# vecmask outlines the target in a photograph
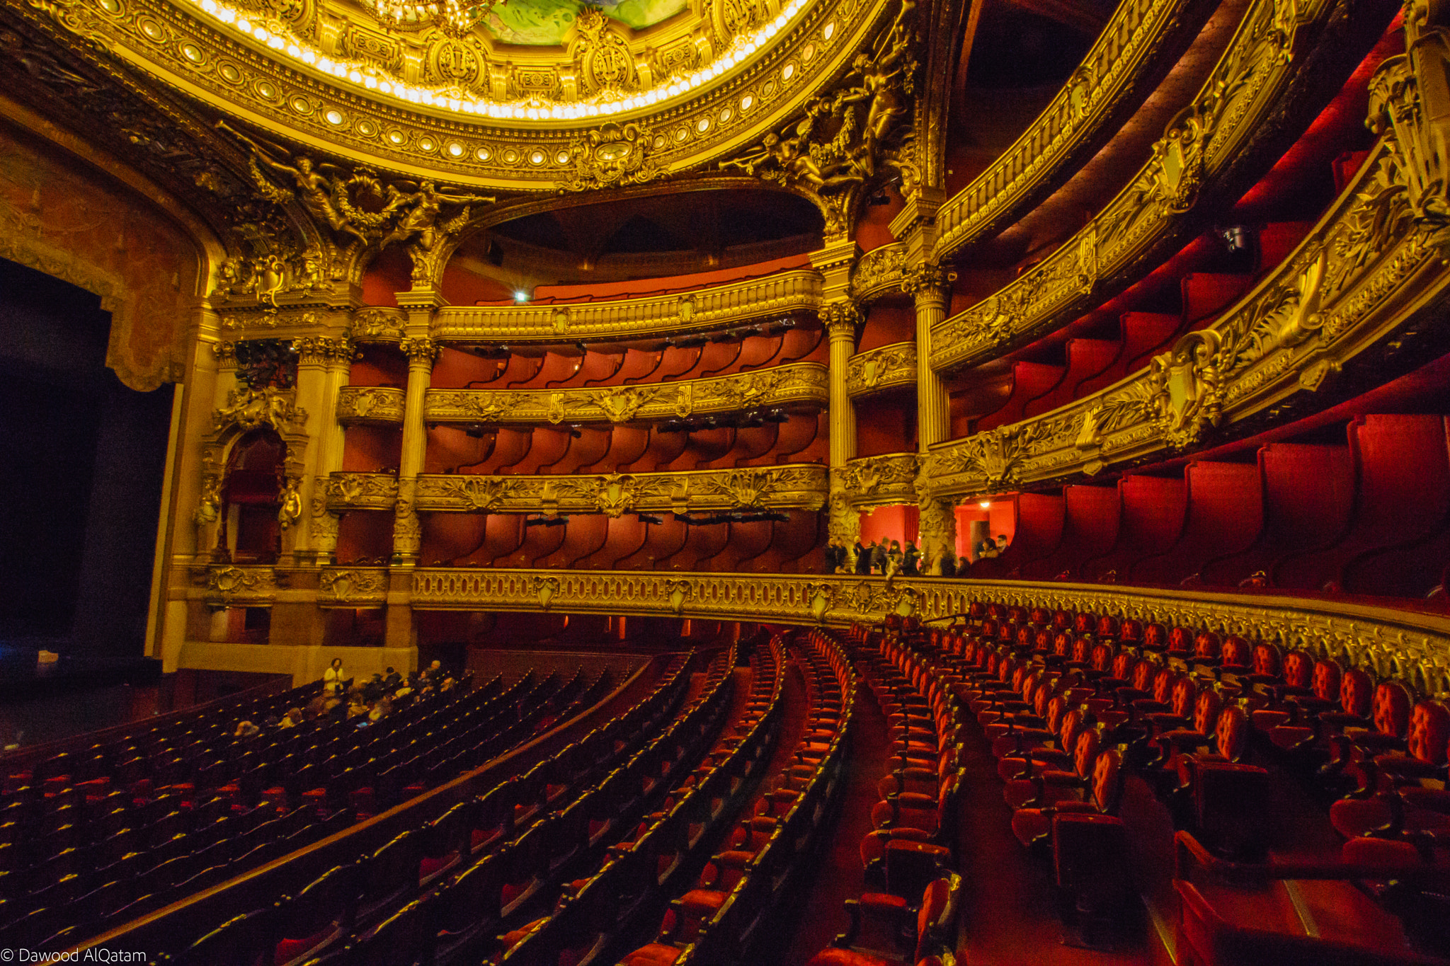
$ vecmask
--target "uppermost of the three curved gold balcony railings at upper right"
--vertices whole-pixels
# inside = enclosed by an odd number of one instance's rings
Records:
[[[937,259],[999,232],[1051,190],[1095,143],[1108,122],[1185,30],[1198,29],[1202,3],[1122,0],[1057,97],[1016,142],[937,210]]]

